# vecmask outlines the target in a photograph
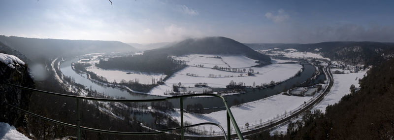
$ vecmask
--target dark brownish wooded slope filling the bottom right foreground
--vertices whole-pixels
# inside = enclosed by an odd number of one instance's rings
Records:
[[[285,140],[392,140],[394,59],[378,64],[360,80],[360,90],[329,105],[326,114],[308,113],[289,124]],[[269,137],[269,136],[267,136]],[[277,136],[271,137],[277,139]],[[252,139],[252,138],[251,138]],[[268,138],[266,138],[268,139]]]

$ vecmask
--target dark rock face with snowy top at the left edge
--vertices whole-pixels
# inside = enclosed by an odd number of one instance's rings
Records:
[[[0,53],[0,122],[26,128],[28,121],[25,114],[7,104],[28,110],[31,92],[4,83],[34,88],[27,65],[13,55]]]

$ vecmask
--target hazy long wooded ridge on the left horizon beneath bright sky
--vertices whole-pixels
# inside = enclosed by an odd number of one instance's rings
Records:
[[[18,50],[31,60],[87,53],[136,51],[120,41],[39,39],[0,35],[0,42]]]

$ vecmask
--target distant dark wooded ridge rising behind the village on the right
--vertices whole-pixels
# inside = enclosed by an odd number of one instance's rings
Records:
[[[322,53],[331,60],[344,61],[349,64],[374,65],[393,57],[394,43],[387,42],[321,42],[311,44],[279,44],[279,43],[249,43],[252,49],[294,48],[298,51]]]

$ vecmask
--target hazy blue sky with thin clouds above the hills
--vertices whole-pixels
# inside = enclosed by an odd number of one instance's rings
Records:
[[[394,42],[394,0],[1,0],[0,35],[126,43]]]

